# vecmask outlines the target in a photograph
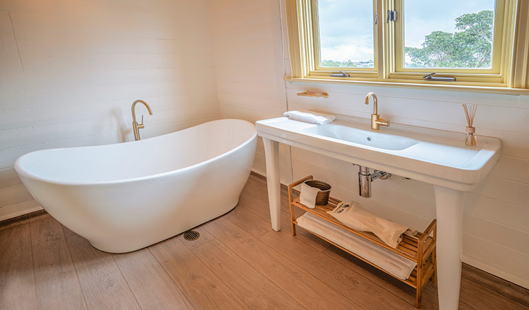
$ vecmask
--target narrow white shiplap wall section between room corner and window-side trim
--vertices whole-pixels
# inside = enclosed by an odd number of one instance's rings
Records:
[[[286,111],[279,2],[212,0],[219,106],[223,118],[251,122]],[[250,78],[251,76],[251,78]],[[290,148],[281,146],[281,180],[292,179]],[[266,174],[261,138],[254,171]]]

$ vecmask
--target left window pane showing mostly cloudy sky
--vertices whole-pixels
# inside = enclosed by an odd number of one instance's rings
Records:
[[[318,0],[321,67],[374,68],[372,0]]]

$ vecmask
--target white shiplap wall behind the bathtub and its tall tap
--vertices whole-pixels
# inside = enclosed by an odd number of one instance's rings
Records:
[[[0,0],[0,220],[40,209],[18,156],[131,141],[135,99],[143,138],[219,118],[209,20],[207,0]]]

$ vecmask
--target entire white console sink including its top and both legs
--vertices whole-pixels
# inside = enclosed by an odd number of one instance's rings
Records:
[[[281,229],[279,143],[434,185],[439,309],[458,308],[463,192],[477,186],[495,165],[499,139],[478,136],[478,145],[468,147],[462,133],[395,124],[370,130],[369,120],[363,119],[312,125],[279,117],[258,121],[256,127],[265,147],[270,218],[276,231]]]

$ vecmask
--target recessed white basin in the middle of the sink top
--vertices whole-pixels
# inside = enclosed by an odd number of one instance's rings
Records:
[[[419,143],[419,141],[412,138],[381,134],[379,132],[369,132],[336,124],[309,127],[302,131],[317,136],[326,136],[327,138],[335,138],[341,141],[348,141],[350,143],[357,143],[369,147],[377,147],[379,149],[390,149],[393,151],[407,149],[408,147]]]

